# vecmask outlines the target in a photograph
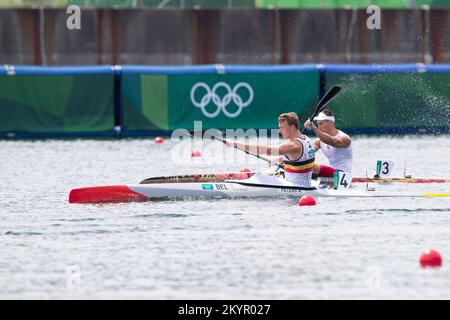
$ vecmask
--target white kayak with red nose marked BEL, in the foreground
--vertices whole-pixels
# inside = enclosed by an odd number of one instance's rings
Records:
[[[301,187],[282,178],[255,174],[245,180],[194,183],[152,183],[73,189],[70,203],[148,201],[171,198],[235,197],[450,197],[450,193],[404,193],[367,190],[334,190],[326,186]]]

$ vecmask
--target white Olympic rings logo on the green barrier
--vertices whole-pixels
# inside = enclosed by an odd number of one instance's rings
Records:
[[[227,92],[222,98],[220,98],[220,96],[216,93],[219,88],[225,88]],[[237,93],[240,88],[245,88],[248,91],[248,98],[246,101],[243,101],[242,97]],[[199,89],[203,89],[205,93],[200,101],[197,101],[195,99],[195,93]],[[230,104],[231,100],[233,100],[234,104],[238,106],[238,109],[234,112],[230,112],[227,110],[227,106]],[[216,83],[214,87],[212,87],[212,89],[210,89],[209,86],[204,82],[197,82],[191,89],[191,101],[192,104],[197,108],[200,108],[202,110],[202,113],[208,118],[217,117],[220,111],[223,111],[223,113],[228,118],[236,118],[241,114],[242,109],[252,103],[253,89],[246,82],[239,82],[234,86],[233,89],[231,89],[231,87],[225,82]],[[209,112],[208,110],[206,110],[206,107],[210,104],[211,101],[216,106],[213,112]]]

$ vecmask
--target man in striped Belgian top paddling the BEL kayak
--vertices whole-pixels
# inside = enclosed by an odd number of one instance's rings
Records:
[[[278,127],[288,141],[278,146],[251,145],[236,141],[225,141],[249,153],[277,156],[272,163],[284,163],[285,179],[300,186],[311,186],[314,169],[314,146],[312,141],[298,130],[299,120],[295,112],[283,113],[278,117]]]

